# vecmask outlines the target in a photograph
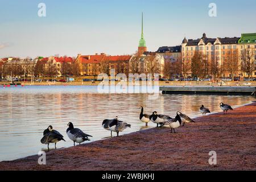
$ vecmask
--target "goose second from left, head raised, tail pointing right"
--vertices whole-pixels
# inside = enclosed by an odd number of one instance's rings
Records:
[[[72,122],[68,123],[67,135],[68,138],[70,138],[74,142],[74,146],[75,142],[81,144],[86,140],[90,140],[88,137],[92,137],[91,135],[85,134],[80,129],[74,129]]]

